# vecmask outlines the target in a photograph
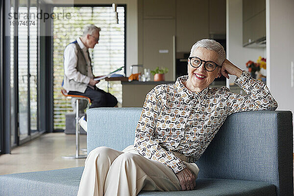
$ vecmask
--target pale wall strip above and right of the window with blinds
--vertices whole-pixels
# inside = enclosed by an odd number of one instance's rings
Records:
[[[138,0],[46,0],[52,4],[126,4],[126,75],[138,64]]]

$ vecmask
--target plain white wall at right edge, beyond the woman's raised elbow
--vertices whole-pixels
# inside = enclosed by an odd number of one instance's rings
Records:
[[[266,0],[266,20],[268,86],[278,102],[278,110],[294,112],[294,0]]]

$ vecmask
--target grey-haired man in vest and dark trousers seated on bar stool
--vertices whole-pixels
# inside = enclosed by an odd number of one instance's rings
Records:
[[[90,108],[114,107],[118,103],[117,98],[113,95],[98,89],[96,84],[99,80],[94,80],[88,49],[93,49],[98,44],[100,30],[95,25],[87,25],[83,36],[77,37],[74,42],[70,43],[65,48],[63,55],[64,81],[62,87],[69,95],[90,98]]]

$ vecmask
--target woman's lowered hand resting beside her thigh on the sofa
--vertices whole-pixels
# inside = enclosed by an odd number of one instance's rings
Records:
[[[178,178],[183,191],[190,191],[196,188],[196,176],[188,168],[177,172],[175,175]]]

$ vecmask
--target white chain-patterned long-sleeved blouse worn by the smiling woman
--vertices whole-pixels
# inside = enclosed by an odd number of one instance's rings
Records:
[[[134,147],[144,157],[163,163],[174,173],[186,166],[174,155],[177,151],[195,162],[208,147],[226,117],[235,112],[275,110],[277,102],[268,87],[247,72],[235,83],[247,95],[230,92],[226,87],[191,92],[183,82],[153,88],[146,96],[135,131]]]

